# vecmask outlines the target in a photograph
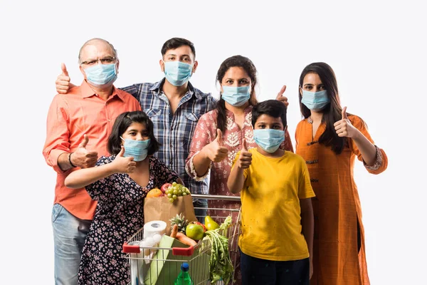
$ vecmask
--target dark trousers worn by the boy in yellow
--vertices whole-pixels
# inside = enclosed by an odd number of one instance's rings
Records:
[[[271,261],[241,254],[241,272],[243,285],[309,285],[310,261],[306,259],[292,261]]]

